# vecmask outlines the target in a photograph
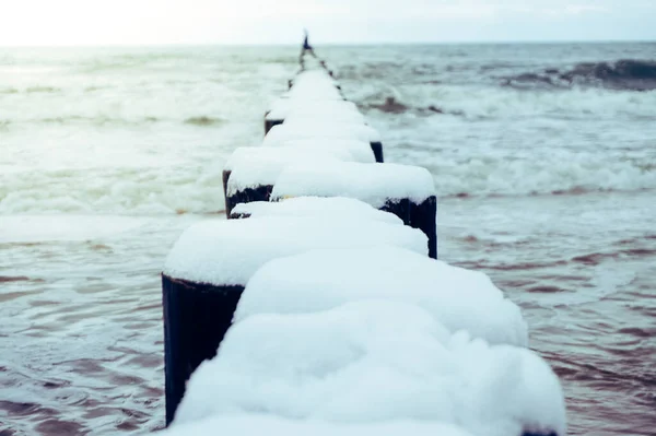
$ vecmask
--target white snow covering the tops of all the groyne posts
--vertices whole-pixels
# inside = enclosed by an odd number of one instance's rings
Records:
[[[274,182],[279,201],[196,224],[169,252],[166,275],[246,288],[163,435],[565,436],[562,388],[526,349],[519,308],[374,209],[420,203],[433,179],[372,164],[379,135],[335,86],[298,74],[267,116],[285,119],[267,146],[226,164],[233,186]]]

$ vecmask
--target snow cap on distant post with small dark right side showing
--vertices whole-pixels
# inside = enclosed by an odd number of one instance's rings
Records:
[[[298,122],[273,126],[265,140],[285,141],[294,139],[342,138],[356,139],[366,142],[380,142],[380,134],[371,126],[362,123],[324,123],[319,119],[312,122]]]

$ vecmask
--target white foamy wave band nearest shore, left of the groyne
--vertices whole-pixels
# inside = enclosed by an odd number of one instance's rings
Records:
[[[160,168],[28,170],[0,175],[0,214],[216,213],[222,173]]]

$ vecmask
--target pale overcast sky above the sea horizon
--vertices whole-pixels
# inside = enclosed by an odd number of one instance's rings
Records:
[[[0,0],[0,46],[656,40],[656,0]]]

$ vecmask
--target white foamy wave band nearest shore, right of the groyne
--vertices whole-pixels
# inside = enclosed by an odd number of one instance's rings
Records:
[[[408,154],[403,163],[426,167],[440,197],[576,196],[596,192],[656,190],[656,170],[642,158],[612,152],[475,150],[469,156],[424,151]]]

